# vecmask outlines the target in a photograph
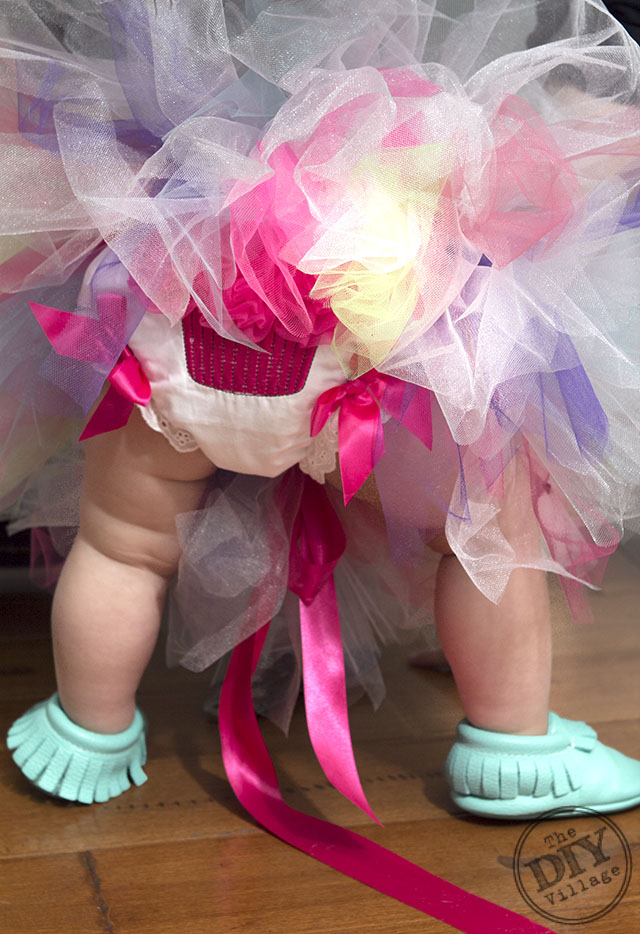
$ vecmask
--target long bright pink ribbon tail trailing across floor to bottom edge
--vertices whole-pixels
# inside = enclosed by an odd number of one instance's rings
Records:
[[[365,885],[466,934],[552,934],[438,878],[366,837],[289,807],[253,708],[251,678],[268,624],[236,646],[220,698],[224,767],[238,800],[280,839]]]

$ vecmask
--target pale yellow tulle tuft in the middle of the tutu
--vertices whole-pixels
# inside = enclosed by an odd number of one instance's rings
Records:
[[[447,143],[384,149],[352,173],[349,208],[336,232],[350,255],[319,273],[312,294],[329,300],[344,326],[334,347],[342,359],[355,355],[361,371],[388,356],[414,314],[423,288],[417,268],[447,181],[449,151]]]

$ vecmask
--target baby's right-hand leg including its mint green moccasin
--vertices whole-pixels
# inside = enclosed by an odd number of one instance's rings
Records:
[[[619,811],[640,804],[640,762],[597,741],[590,727],[549,712],[551,618],[546,576],[526,566],[540,531],[528,478],[505,477],[500,525],[523,566],[499,604],[452,554],[436,587],[436,625],[466,720],[445,763],[453,801],[484,817],[531,818],[558,807]],[[446,541],[439,544],[446,551]]]

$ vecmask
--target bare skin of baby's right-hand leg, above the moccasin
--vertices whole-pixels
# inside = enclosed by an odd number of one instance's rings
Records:
[[[529,477],[517,461],[505,474],[500,527],[523,561],[539,553]],[[444,536],[438,544],[443,556],[436,582],[436,627],[465,716],[484,730],[545,734],[551,687],[546,574],[516,568],[500,603],[494,604],[475,587]]]

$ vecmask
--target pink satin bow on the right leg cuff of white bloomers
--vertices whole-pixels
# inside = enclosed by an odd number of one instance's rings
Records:
[[[345,505],[384,454],[381,408],[431,448],[429,390],[375,370],[323,392],[311,413],[313,438],[322,431],[331,415],[338,412],[340,474]]]

